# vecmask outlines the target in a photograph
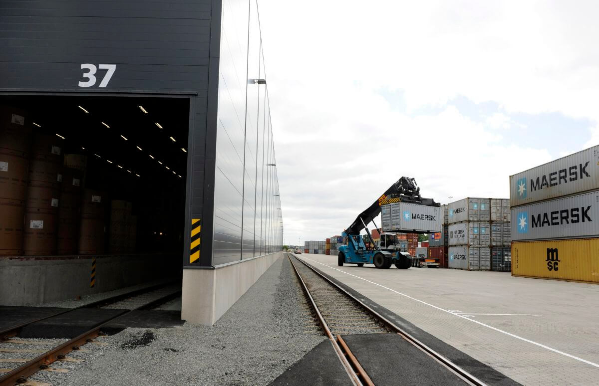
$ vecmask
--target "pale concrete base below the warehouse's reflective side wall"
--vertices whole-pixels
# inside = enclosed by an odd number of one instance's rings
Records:
[[[183,269],[181,319],[212,326],[281,257],[277,252],[216,269]]]

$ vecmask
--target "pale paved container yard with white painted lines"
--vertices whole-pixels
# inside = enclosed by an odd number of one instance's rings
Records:
[[[336,256],[298,257],[398,315],[406,326],[514,381],[586,385],[599,374],[598,285],[504,272],[338,267]]]

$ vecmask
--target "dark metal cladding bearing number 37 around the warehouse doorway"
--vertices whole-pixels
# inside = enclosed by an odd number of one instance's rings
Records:
[[[216,26],[211,10],[216,5]],[[173,93],[192,95],[189,118],[186,234],[202,218],[211,232],[214,151],[207,153],[208,82],[218,72],[220,0],[3,0],[0,1],[0,91]],[[215,41],[216,39],[216,41]],[[210,53],[216,47],[216,55]],[[96,81],[81,87],[93,65]],[[114,65],[110,81],[100,87]],[[213,97],[216,99],[216,95]],[[212,127],[216,132],[216,127]],[[211,235],[207,238],[211,248]],[[204,245],[202,245],[203,247]],[[205,251],[204,251],[205,252]],[[211,251],[198,265],[211,266]]]

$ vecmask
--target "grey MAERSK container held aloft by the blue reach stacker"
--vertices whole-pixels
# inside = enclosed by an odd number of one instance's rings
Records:
[[[443,218],[439,206],[398,202],[380,209],[385,232],[441,232]]]

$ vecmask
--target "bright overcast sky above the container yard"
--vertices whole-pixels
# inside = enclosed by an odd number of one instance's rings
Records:
[[[286,244],[340,234],[403,175],[441,203],[509,197],[509,175],[599,144],[598,11],[259,0]]]

